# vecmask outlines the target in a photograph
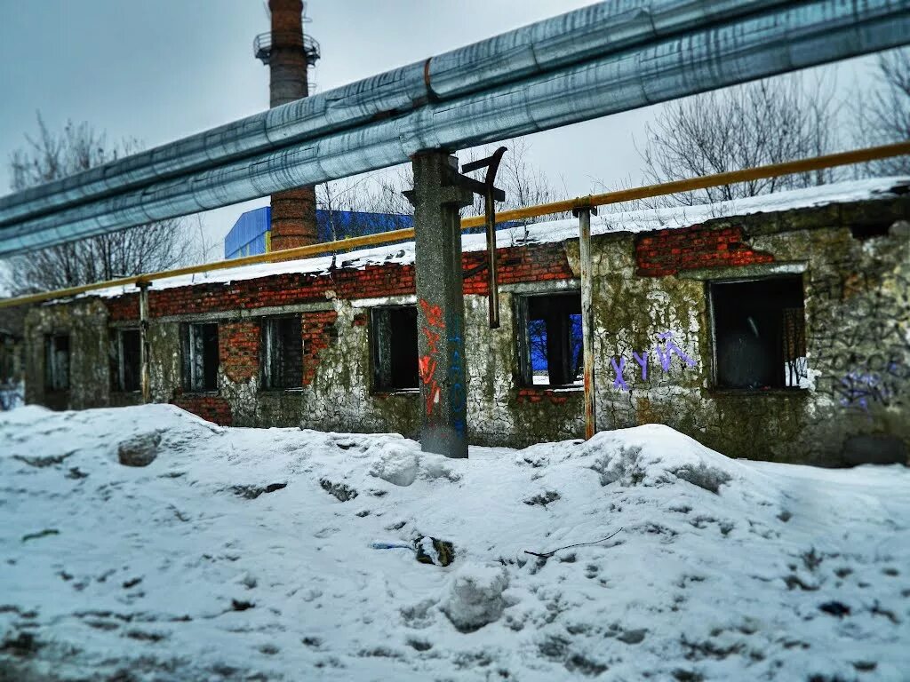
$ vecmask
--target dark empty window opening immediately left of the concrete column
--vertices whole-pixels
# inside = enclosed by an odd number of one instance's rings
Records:
[[[369,312],[375,390],[419,388],[417,307],[382,307]]]

